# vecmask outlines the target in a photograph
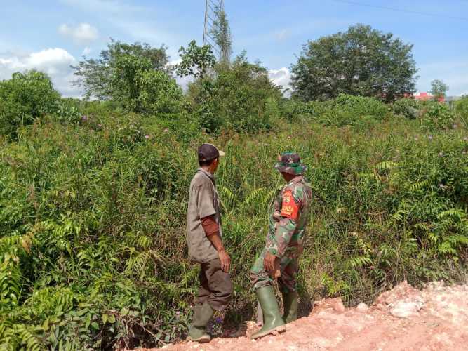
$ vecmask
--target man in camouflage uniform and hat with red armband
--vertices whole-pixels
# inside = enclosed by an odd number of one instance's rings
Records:
[[[303,176],[307,167],[300,163],[298,154],[284,152],[275,168],[288,184],[274,200],[265,249],[250,271],[253,290],[263,314],[262,329],[253,338],[285,331],[285,323],[297,319],[297,258],[302,253],[312,189]],[[282,317],[272,286],[275,279],[279,279],[283,294]]]

